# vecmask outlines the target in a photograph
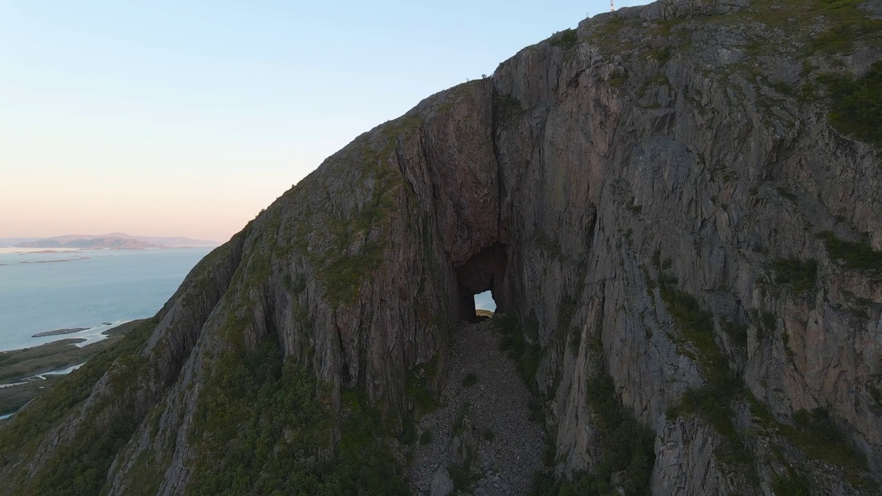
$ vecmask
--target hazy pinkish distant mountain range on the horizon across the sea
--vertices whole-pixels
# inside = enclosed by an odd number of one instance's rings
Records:
[[[217,246],[219,244],[216,241],[193,239],[191,237],[130,236],[121,232],[100,236],[75,234],[56,237],[0,237],[0,246],[15,246],[18,248],[142,250],[145,248]]]

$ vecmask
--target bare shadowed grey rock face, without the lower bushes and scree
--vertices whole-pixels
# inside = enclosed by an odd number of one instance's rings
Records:
[[[200,385],[224,349],[266,340],[328,385],[334,410],[355,387],[397,421],[407,372],[437,364],[438,393],[447,334],[491,289],[542,348],[532,386],[558,472],[602,459],[586,386],[600,368],[657,434],[654,493],[759,493],[791,465],[818,491],[861,492],[779,427],[825,410],[882,476],[882,269],[836,251],[882,249],[880,159],[794,88],[882,55],[860,40],[808,52],[829,26],[788,5],[797,20],[770,40],[772,7],[667,1],[586,19],[359,136],[194,269],[136,387],[110,387],[112,368],[4,473],[26,480],[83,419],[131,408],[138,430],[107,487],[125,492],[148,454],[160,493],[182,493]],[[719,397],[734,433],[672,409],[733,378],[744,387]],[[727,443],[755,462],[730,463]]]

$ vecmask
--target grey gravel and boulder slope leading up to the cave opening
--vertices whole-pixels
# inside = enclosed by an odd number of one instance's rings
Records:
[[[453,332],[445,404],[417,421],[418,433],[429,430],[432,440],[417,443],[413,451],[414,494],[449,493],[452,481],[445,469],[456,470],[458,453],[469,458],[459,464],[470,467],[459,471],[473,483],[460,487],[465,494],[527,494],[534,473],[542,469],[546,442],[542,427],[529,419],[533,395],[512,359],[499,350],[500,337],[492,320],[464,323]],[[474,384],[465,386],[467,379]]]

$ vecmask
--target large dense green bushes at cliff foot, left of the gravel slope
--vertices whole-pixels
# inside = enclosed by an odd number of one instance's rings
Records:
[[[188,496],[407,494],[363,393],[343,392],[340,443],[335,455],[319,455],[333,446],[330,387],[293,360],[283,364],[273,340],[222,351],[201,391]]]

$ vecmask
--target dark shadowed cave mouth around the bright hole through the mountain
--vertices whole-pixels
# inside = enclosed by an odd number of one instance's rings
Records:
[[[502,283],[505,276],[505,244],[496,243],[474,257],[468,259],[460,267],[456,267],[457,289],[459,290],[460,319],[468,322],[478,320],[475,313],[475,295],[490,291],[497,312],[504,312],[502,298],[499,296],[497,284]]]

